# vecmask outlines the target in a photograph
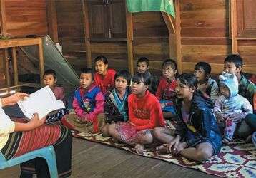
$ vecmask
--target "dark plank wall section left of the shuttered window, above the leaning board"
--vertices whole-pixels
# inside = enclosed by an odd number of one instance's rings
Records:
[[[85,66],[84,22],[82,1],[56,0],[59,43],[63,54],[79,70]]]

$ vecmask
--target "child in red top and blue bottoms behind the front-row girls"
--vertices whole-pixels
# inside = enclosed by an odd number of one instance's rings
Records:
[[[164,118],[175,115],[172,101],[176,98],[176,76],[177,64],[172,59],[167,59],[162,63],[162,78],[160,79],[156,97],[160,100]]]

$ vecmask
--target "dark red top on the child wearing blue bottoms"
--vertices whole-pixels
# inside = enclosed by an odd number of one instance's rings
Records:
[[[177,86],[176,80],[172,80],[171,83],[165,78],[161,78],[158,88],[157,88],[157,99],[158,100],[173,100],[176,96],[175,88]]]

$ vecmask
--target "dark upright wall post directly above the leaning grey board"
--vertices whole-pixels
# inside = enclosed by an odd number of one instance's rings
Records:
[[[58,23],[55,0],[46,1],[48,33],[54,43],[58,43]]]

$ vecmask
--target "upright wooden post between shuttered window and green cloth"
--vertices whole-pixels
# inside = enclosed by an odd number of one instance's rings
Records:
[[[132,26],[132,13],[129,13],[126,7],[126,23],[127,23],[127,57],[129,73],[134,75],[134,60],[133,60],[133,26]]]

